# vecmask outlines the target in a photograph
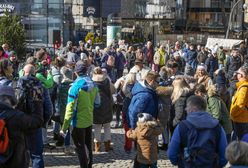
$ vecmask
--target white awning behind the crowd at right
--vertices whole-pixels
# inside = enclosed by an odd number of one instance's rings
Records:
[[[224,49],[231,49],[234,46],[240,45],[242,42],[243,40],[237,39],[208,38],[206,47],[212,49],[218,44],[218,46],[223,46]]]

